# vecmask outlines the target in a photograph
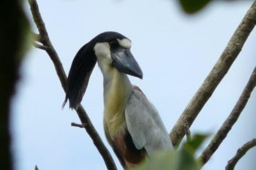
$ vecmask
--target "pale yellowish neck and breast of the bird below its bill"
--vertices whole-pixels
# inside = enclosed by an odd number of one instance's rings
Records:
[[[113,137],[125,127],[125,106],[132,93],[132,84],[126,74],[119,72],[115,67],[101,65],[104,78],[104,120]]]

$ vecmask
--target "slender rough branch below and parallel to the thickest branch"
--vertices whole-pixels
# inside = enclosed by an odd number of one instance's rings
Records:
[[[218,149],[221,142],[225,139],[228,132],[231,130],[232,126],[236,123],[245,105],[247,104],[247,101],[250,98],[251,92],[253,91],[255,85],[256,85],[256,67],[254,68],[252,75],[248,83],[246,84],[241,96],[239,97],[234,109],[231,111],[228,118],[222,124],[218,132],[215,134],[210,144],[207,146],[207,148],[203,151],[203,153],[198,158],[198,160],[202,162],[202,166],[210,159],[213,153]]]

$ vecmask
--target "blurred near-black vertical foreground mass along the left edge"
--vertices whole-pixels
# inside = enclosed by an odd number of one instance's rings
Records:
[[[0,169],[12,170],[10,137],[11,98],[20,78],[20,64],[31,46],[30,25],[23,0],[8,0],[0,10]]]

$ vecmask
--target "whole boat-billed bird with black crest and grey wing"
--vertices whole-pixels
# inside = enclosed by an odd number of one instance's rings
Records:
[[[104,32],[82,46],[67,78],[69,107],[77,109],[96,62],[103,74],[104,131],[124,169],[134,167],[156,151],[172,149],[169,134],[157,109],[128,75],[142,79],[131,53],[131,40],[117,32]]]

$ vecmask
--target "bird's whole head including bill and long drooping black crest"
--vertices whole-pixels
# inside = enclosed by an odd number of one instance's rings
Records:
[[[67,79],[66,98],[70,108],[75,108],[83,98],[92,70],[98,61],[102,71],[115,67],[119,72],[143,77],[139,64],[131,51],[131,41],[116,32],[104,32],[82,46],[77,52]]]

